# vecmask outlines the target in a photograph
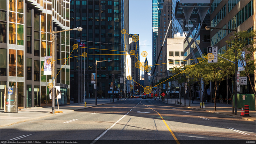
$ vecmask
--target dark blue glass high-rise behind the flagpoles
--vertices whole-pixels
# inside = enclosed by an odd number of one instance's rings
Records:
[[[70,59],[71,96],[75,103],[84,102],[84,98],[95,98],[94,84],[91,75],[95,73],[95,61],[98,62],[97,96],[110,98],[111,83],[115,90],[124,84],[118,82],[120,77],[126,77],[125,48],[129,49],[129,1],[128,0],[72,0],[70,4],[71,28],[82,27],[81,32],[71,31],[71,46],[78,43]],[[122,29],[126,33],[121,33]],[[79,39],[77,41],[77,39]],[[82,57],[86,52],[87,56]],[[127,75],[128,76],[128,75]],[[124,92],[122,91],[122,95]]]

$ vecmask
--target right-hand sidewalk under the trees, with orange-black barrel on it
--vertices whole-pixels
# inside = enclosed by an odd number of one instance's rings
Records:
[[[159,97],[158,97],[158,100],[159,100]],[[175,100],[177,100],[177,98],[175,98],[175,99],[168,98],[168,104],[184,106],[184,99],[181,99],[182,104],[175,104]],[[178,99],[178,100],[180,102],[180,99]],[[165,100],[163,102],[167,103],[167,99],[165,98]],[[186,106],[184,106],[184,107],[197,109],[197,110],[201,110],[201,111],[212,112],[212,113],[216,113],[216,114],[229,115],[232,117],[241,118],[241,119],[245,119],[248,121],[256,121],[256,111],[249,110],[249,115],[251,117],[243,117],[243,116],[240,116],[241,109],[237,108],[237,115],[232,114],[232,105],[226,104],[225,102],[223,102],[223,103],[217,102],[216,103],[217,111],[214,111],[214,103],[205,102],[204,105],[205,105],[205,108],[200,108],[200,101],[197,100],[197,101],[194,101],[193,104],[192,104],[192,101],[190,101],[190,106],[189,106],[189,100],[186,100]],[[243,111],[244,111],[244,109],[243,109]],[[235,112],[235,109],[234,109],[234,112]]]

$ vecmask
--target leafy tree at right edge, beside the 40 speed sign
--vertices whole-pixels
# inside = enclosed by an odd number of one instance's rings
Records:
[[[253,93],[256,95],[256,79],[250,79],[250,75],[256,73],[256,58],[254,58],[256,52],[256,31],[240,31],[235,33],[234,37],[230,38],[230,41],[226,41],[226,43],[229,45],[229,49],[237,52],[237,58],[242,61],[241,64],[245,69],[243,73],[249,78]],[[244,55],[242,55],[242,52],[244,52]]]

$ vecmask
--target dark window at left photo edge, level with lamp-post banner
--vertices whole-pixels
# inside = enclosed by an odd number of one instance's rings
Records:
[[[7,76],[7,49],[0,49],[0,75]]]

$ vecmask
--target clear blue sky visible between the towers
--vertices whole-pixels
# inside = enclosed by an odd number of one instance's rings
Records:
[[[148,52],[148,65],[152,65],[152,0],[130,0],[129,2],[129,33],[139,34],[140,53]],[[145,62],[145,58],[140,56],[140,61]]]

